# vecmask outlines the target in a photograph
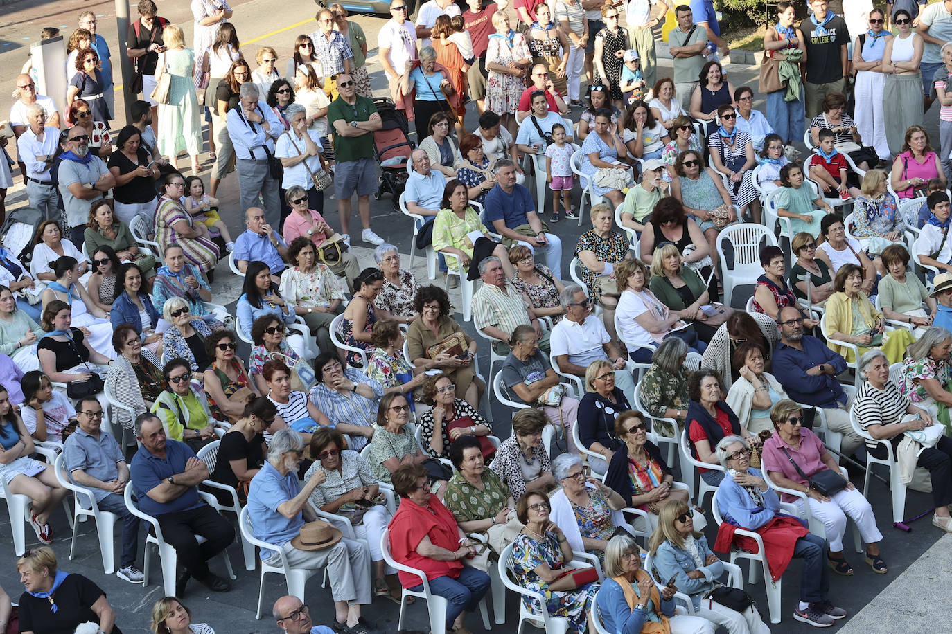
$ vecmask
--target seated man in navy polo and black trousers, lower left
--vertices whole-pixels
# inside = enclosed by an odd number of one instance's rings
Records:
[[[140,414],[134,425],[141,447],[132,457],[132,489],[139,509],[159,521],[162,536],[185,567],[175,579],[175,596],[185,594],[190,577],[213,592],[228,592],[231,584],[208,569],[208,560],[228,548],[235,531],[198,495],[208,468],[188,445],[166,438],[154,413]],[[199,544],[196,535],[205,541]]]

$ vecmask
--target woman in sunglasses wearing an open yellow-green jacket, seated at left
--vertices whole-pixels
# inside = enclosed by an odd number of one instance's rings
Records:
[[[191,451],[202,449],[217,436],[208,398],[202,387],[191,381],[197,376],[184,358],[170,360],[162,375],[168,387],[155,399],[149,412],[162,421],[169,440],[184,442]]]

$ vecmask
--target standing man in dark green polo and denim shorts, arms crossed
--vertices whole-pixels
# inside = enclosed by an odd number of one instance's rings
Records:
[[[340,96],[327,107],[334,126],[334,193],[341,217],[341,234],[350,244],[350,197],[357,193],[357,213],[364,231],[361,240],[380,245],[384,240],[370,229],[370,194],[377,191],[377,165],[373,157],[373,132],[384,126],[372,99],[357,94],[347,73],[337,76]]]

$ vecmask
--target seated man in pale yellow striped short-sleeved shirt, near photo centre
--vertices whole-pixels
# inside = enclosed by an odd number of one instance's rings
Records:
[[[548,354],[548,331],[543,332],[532,302],[506,281],[503,263],[490,256],[479,263],[483,286],[473,294],[473,319],[486,336],[498,339],[492,348],[499,355],[509,354],[509,337],[520,324],[530,324],[540,336],[539,347]]]

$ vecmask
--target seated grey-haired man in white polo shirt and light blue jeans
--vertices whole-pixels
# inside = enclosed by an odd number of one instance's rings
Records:
[[[602,319],[591,312],[591,300],[578,284],[565,286],[559,294],[559,303],[565,309],[565,319],[552,328],[549,346],[559,372],[578,376],[585,382],[585,369],[592,361],[607,360],[615,367],[615,386],[634,403],[635,381],[630,372],[624,372],[627,360],[611,340]],[[581,394],[580,394],[581,395]]]

